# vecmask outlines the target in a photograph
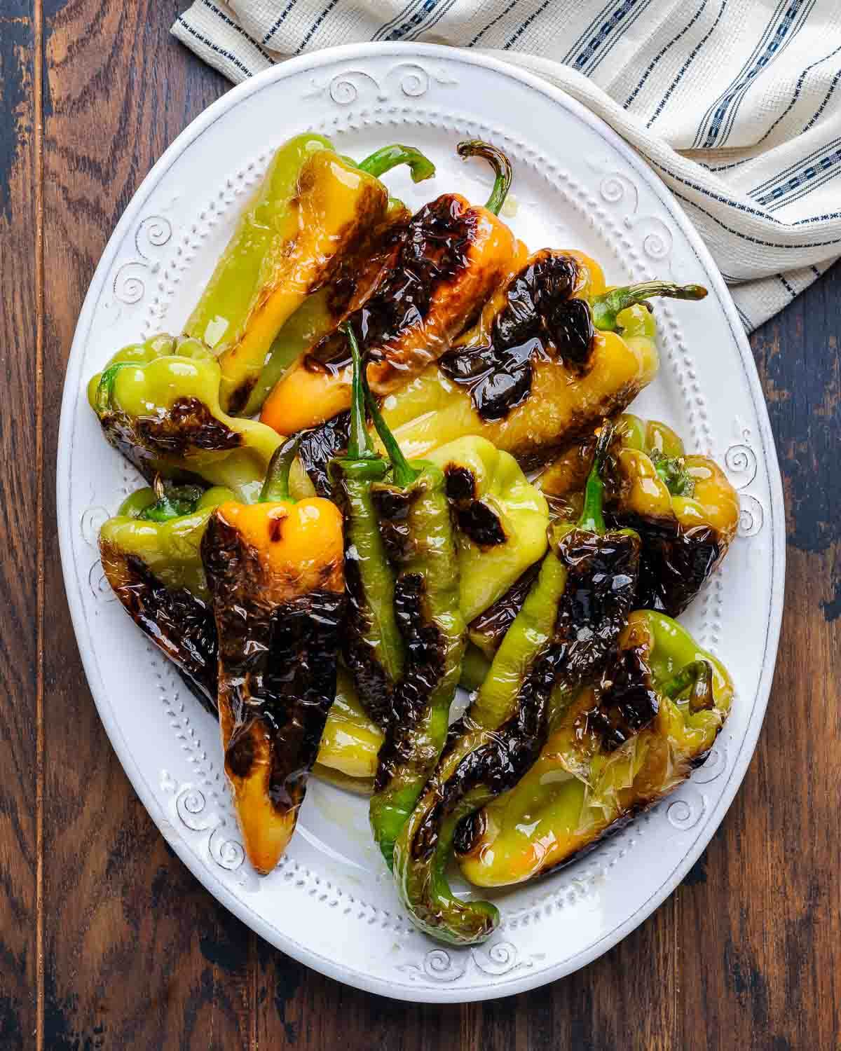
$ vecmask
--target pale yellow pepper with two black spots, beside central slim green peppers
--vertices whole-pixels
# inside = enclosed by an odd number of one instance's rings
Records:
[[[459,438],[428,458],[446,479],[456,523],[461,615],[472,621],[542,558],[549,506],[514,457],[486,438]]]

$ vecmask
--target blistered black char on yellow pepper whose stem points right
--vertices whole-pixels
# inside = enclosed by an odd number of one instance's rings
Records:
[[[588,304],[571,298],[577,285],[572,256],[537,252],[509,284],[488,344],[455,347],[439,359],[445,375],[470,388],[483,419],[502,419],[526,400],[536,357],[586,371],[594,330]]]

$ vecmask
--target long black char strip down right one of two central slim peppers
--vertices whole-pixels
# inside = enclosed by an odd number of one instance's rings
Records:
[[[397,578],[394,586],[394,616],[406,643],[406,661],[394,689],[391,725],[380,749],[374,791],[381,791],[397,766],[427,764],[436,755],[418,755],[415,729],[429,710],[431,695],[444,677],[447,665],[446,640],[426,606],[426,584],[419,573]]]

